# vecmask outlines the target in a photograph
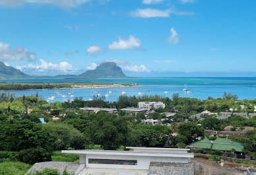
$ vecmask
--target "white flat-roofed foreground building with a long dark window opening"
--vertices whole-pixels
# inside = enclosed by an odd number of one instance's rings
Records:
[[[75,174],[194,174],[189,149],[127,147],[132,151],[65,150],[79,154],[80,166]],[[164,165],[164,168],[162,167]],[[158,172],[158,173],[157,173]]]

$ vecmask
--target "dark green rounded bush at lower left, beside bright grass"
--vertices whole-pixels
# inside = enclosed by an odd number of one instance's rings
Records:
[[[24,149],[18,153],[19,160],[28,164],[51,161],[51,153],[43,148]]]

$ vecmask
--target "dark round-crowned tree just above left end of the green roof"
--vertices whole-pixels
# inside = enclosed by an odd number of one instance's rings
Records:
[[[177,130],[179,134],[187,137],[187,144],[196,141],[199,137],[205,136],[204,129],[193,122],[180,124]]]

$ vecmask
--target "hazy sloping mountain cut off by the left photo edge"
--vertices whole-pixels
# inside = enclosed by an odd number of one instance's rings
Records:
[[[6,66],[5,63],[0,61],[0,79],[15,78],[30,78],[30,76],[12,66]]]

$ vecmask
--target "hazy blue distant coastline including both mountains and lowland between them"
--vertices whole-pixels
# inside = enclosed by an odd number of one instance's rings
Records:
[[[58,75],[58,76],[30,76],[0,62],[0,79],[24,79],[24,78],[63,78],[63,79],[97,79],[97,78],[127,78],[123,70],[113,62],[104,62],[95,70],[87,70],[79,75]]]

